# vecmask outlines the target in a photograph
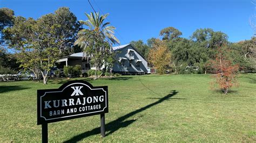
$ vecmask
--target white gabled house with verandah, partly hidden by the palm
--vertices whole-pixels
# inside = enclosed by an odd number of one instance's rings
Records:
[[[112,68],[113,73],[119,74],[147,74],[147,61],[131,44],[112,47],[117,52],[117,61]],[[60,66],[81,65],[83,72],[95,69],[90,65],[90,60],[82,60],[83,52],[71,54],[59,59]]]

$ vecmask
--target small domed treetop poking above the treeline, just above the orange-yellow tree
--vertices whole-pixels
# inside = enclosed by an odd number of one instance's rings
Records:
[[[163,40],[173,40],[178,38],[182,33],[174,27],[166,27],[160,31]]]

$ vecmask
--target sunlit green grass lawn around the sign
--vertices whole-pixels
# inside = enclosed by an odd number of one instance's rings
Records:
[[[239,76],[228,95],[211,90],[210,75],[121,76],[92,81],[109,86],[106,137],[100,117],[48,125],[53,142],[255,142],[256,75]],[[59,88],[66,80],[0,83],[0,142],[40,142],[37,89]]]

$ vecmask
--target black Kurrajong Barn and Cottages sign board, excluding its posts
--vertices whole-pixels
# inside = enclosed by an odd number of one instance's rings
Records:
[[[59,89],[37,90],[37,125],[109,112],[107,87],[70,81]]]

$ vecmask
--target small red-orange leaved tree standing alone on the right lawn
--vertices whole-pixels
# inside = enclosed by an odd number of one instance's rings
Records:
[[[239,71],[239,66],[233,65],[232,61],[227,58],[227,52],[225,47],[219,47],[216,59],[212,61],[216,78],[215,83],[219,85],[224,94],[227,94],[228,90],[237,84],[236,77]]]

